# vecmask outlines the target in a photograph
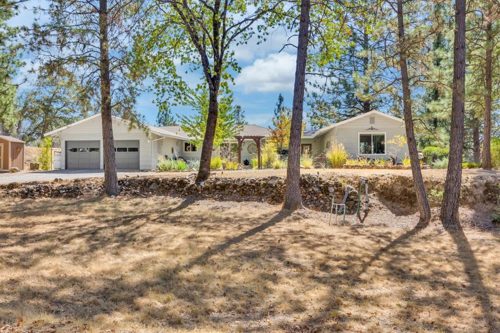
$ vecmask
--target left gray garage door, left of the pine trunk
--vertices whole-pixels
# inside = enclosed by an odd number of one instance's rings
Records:
[[[66,169],[99,168],[99,141],[66,141]]]

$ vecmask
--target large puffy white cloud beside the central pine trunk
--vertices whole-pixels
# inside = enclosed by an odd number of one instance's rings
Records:
[[[270,53],[244,67],[236,77],[236,88],[245,93],[291,91],[295,75],[295,55],[281,52]]]

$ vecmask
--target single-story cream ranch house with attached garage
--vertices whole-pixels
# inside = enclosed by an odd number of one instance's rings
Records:
[[[118,169],[155,169],[158,156],[171,158],[175,154],[186,160],[199,159],[201,148],[189,143],[190,138],[180,126],[151,126],[128,130],[128,123],[113,117],[113,137]],[[241,136],[269,138],[269,130],[257,125],[245,125]],[[341,142],[351,157],[382,158],[389,155],[404,157],[406,145],[388,143],[395,135],[405,135],[402,119],[379,111],[370,111],[319,130],[305,130],[301,138],[302,151],[323,154],[333,142]],[[103,169],[102,126],[100,113],[45,133],[61,142],[61,169]],[[237,147],[237,141],[230,141]],[[237,149],[237,148],[236,148]],[[250,160],[257,147],[253,139],[244,139],[241,160]],[[214,150],[216,155],[219,150]]]

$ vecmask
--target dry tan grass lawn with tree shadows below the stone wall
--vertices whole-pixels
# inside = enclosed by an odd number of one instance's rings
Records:
[[[500,330],[491,232],[165,197],[0,207],[0,332]]]

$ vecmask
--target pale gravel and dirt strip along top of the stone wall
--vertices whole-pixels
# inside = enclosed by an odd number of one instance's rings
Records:
[[[118,178],[132,176],[148,177],[178,177],[195,173],[194,171],[185,172],[145,172],[136,170],[118,171]],[[370,176],[405,176],[411,177],[411,170],[376,170],[376,169],[301,169],[300,173],[312,173],[320,176],[347,176],[347,177],[370,177]],[[422,170],[424,178],[444,179],[446,170]],[[234,171],[212,171],[212,175],[217,177],[267,177],[267,176],[286,176],[285,169],[264,169],[264,170],[234,170]],[[486,171],[480,169],[471,169],[462,171],[463,178],[484,177],[499,178],[500,172],[496,170]],[[22,173],[0,173],[0,184],[12,182],[25,183],[34,181],[51,181],[55,178],[70,180],[82,178],[102,178],[102,170],[54,170],[54,171],[32,171]]]

